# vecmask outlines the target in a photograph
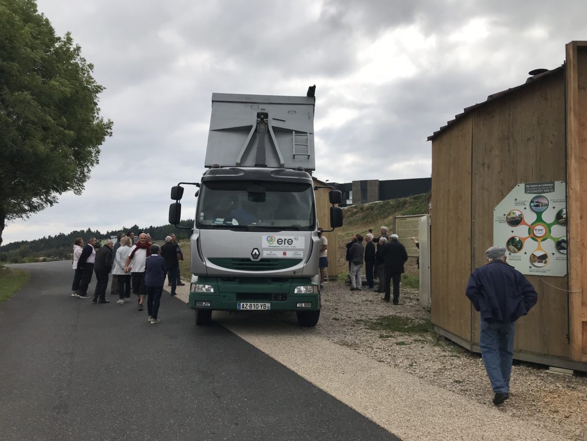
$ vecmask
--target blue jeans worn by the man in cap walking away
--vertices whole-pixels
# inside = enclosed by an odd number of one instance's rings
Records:
[[[488,323],[481,320],[479,346],[487,376],[495,393],[510,393],[514,331],[515,323]]]

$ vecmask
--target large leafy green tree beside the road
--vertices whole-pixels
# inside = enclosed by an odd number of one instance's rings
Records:
[[[5,223],[80,194],[112,121],[72,36],[33,0],[0,0],[0,244]]]

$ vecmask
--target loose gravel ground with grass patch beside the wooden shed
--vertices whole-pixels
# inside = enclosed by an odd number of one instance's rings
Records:
[[[410,270],[413,266],[410,262]],[[322,313],[315,329],[323,338],[494,407],[481,356],[439,338],[431,330],[430,313],[420,306],[417,290],[402,287],[398,306],[383,302],[382,294],[375,291],[351,292],[342,282],[326,283],[322,293]],[[382,316],[423,326],[410,332],[369,329],[374,327],[373,320]],[[585,441],[587,377],[553,373],[548,366],[514,361],[511,398],[499,409],[569,439]]]

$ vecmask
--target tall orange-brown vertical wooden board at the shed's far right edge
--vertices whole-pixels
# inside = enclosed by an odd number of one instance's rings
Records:
[[[571,358],[587,362],[587,42],[566,45]]]

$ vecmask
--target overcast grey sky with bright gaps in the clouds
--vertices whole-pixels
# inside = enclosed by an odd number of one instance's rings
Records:
[[[587,2],[546,0],[38,0],[95,65],[114,134],[82,195],[9,223],[4,243],[167,223],[171,186],[199,181],[212,92],[305,95],[314,175],[426,178],[426,141],[463,108],[552,69],[587,39]],[[191,193],[190,193],[191,194]],[[184,218],[194,200],[184,196]],[[158,238],[156,238],[158,239]]]

